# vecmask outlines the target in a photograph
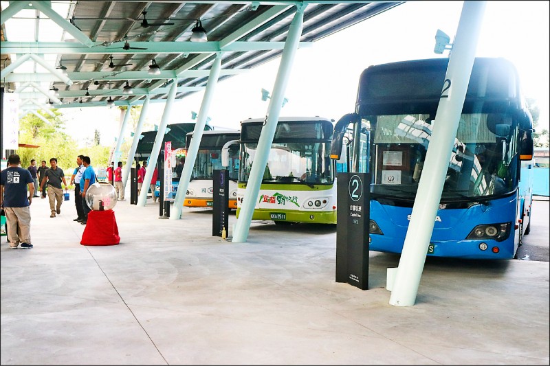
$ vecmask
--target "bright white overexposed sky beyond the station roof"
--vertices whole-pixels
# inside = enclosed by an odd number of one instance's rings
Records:
[[[540,108],[538,130],[549,129],[549,1],[487,1],[476,56],[503,57],[518,69],[522,90]],[[287,84],[287,104],[281,116],[321,116],[338,121],[355,108],[360,74],[370,65],[421,58],[434,54],[434,36],[442,30],[454,40],[462,1],[408,1],[383,14],[348,27],[298,49]],[[217,84],[208,112],[210,125],[239,129],[247,118],[264,117],[269,106],[261,89],[273,90],[281,58]],[[162,65],[160,65],[162,67]],[[223,64],[222,64],[223,68]],[[192,122],[203,92],[175,102],[170,123]],[[98,128],[102,144],[118,137],[118,108],[63,108],[67,132],[82,140]],[[164,103],[151,103],[147,122],[159,124]],[[127,130],[125,138],[130,138]]]

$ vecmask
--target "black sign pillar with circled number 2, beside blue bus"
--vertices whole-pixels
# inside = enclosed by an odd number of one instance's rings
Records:
[[[338,173],[336,282],[369,288],[369,173]]]

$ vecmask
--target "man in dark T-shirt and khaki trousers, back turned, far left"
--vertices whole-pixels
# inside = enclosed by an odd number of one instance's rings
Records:
[[[8,168],[0,173],[0,206],[4,207],[8,223],[10,248],[17,249],[21,243],[21,249],[31,249],[30,204],[34,196],[34,180],[30,172],[20,168],[19,164],[19,155],[10,155]]]

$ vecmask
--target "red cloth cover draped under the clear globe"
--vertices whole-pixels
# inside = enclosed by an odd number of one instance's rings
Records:
[[[83,245],[116,245],[120,242],[115,211],[89,211],[82,240]]]

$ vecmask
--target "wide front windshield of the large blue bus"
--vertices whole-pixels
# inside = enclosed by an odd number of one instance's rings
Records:
[[[430,114],[366,116],[373,139],[371,192],[414,200],[432,128]],[[463,113],[441,200],[505,195],[518,183],[518,126],[506,113]]]

